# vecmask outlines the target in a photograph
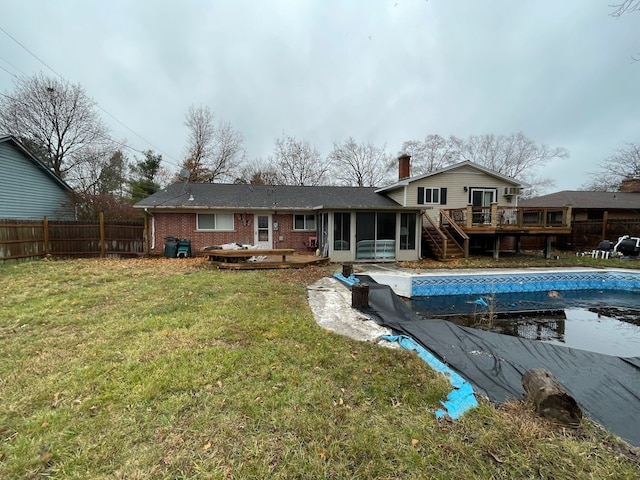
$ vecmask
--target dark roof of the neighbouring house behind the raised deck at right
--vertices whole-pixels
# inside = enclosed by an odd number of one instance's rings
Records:
[[[520,200],[521,207],[563,207],[589,209],[640,209],[640,193],[623,192],[586,192],[563,190],[536,198]]]

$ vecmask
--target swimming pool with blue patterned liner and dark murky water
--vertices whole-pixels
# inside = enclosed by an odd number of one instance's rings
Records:
[[[426,319],[608,355],[640,355],[640,271],[386,269],[368,275],[409,297],[410,308]]]

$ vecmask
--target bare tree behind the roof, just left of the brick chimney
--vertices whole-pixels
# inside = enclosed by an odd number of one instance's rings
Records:
[[[389,179],[391,155],[384,147],[356,143],[349,137],[342,143],[334,142],[329,160],[331,176],[341,185],[375,187]]]

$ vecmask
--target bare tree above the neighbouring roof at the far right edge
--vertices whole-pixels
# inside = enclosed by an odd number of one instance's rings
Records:
[[[590,174],[591,181],[582,186],[585,190],[617,192],[622,181],[640,178],[640,144],[627,143],[598,165],[598,170]]]

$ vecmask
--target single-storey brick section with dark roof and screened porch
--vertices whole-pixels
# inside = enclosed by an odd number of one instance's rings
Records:
[[[147,215],[151,254],[177,237],[194,252],[235,242],[335,261],[419,258],[420,210],[375,188],[175,183],[135,208]]]

